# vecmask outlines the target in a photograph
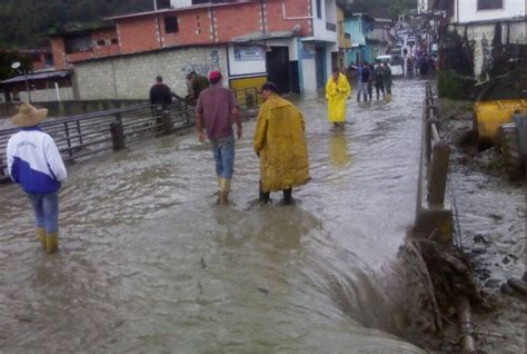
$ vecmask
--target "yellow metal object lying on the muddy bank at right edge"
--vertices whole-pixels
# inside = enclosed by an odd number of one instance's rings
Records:
[[[499,126],[511,122],[514,114],[527,112],[526,99],[479,101],[474,105],[474,131],[479,141],[494,144]]]

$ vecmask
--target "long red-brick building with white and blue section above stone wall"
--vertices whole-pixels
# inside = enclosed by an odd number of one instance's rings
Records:
[[[176,52],[177,58],[183,49],[188,52],[193,47],[213,47],[213,51],[225,51],[225,56],[216,58],[225,58],[226,62],[193,62],[185,68],[207,75],[216,65],[225,68],[233,88],[257,86],[269,79],[281,91],[300,92],[324,88],[330,75],[331,53],[338,52],[335,0],[172,0],[169,9],[106,20],[111,24],[105,28],[54,36],[56,67],[77,70],[93,60],[122,62],[165,51]],[[170,69],[153,68],[159,75],[176,75],[167,70]],[[145,75],[151,72],[152,68],[148,68]],[[185,77],[185,72],[177,75]],[[181,90],[179,86],[185,81],[168,83]],[[116,82],[115,86],[118,87]],[[116,89],[116,96],[123,95]]]

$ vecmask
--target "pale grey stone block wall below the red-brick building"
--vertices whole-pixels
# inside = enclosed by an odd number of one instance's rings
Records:
[[[187,95],[186,75],[227,72],[226,47],[173,48],[148,53],[97,59],[74,65],[79,99],[147,99],[161,75],[175,94]],[[225,80],[227,82],[227,80]]]

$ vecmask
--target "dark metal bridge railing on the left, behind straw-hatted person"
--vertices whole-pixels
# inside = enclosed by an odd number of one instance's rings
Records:
[[[257,108],[257,89],[235,91],[242,110]],[[166,109],[151,105],[110,109],[40,124],[57,144],[64,161],[80,160],[107,150],[120,150],[152,137],[195,125],[195,107],[177,101]],[[6,180],[6,148],[19,128],[0,130],[0,181]]]

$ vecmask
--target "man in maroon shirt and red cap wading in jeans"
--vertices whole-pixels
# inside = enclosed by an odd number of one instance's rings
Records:
[[[227,204],[230,181],[235,166],[235,134],[232,121],[237,126],[237,137],[241,138],[241,117],[235,95],[230,89],[221,87],[221,73],[209,75],[210,87],[199,95],[196,106],[196,129],[198,139],[212,142],[216,161],[216,175],[219,186],[219,204]],[[207,135],[203,131],[207,128]]]

